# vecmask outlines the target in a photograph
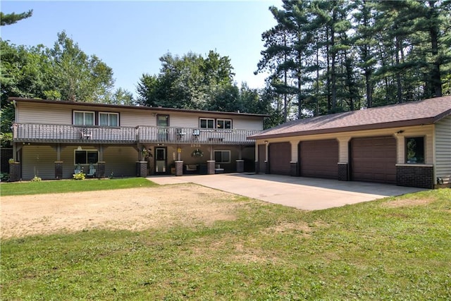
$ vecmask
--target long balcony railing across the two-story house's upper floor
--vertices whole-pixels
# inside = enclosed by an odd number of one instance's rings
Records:
[[[77,143],[175,143],[233,145],[254,144],[247,137],[259,130],[219,130],[180,127],[84,127],[37,123],[15,123],[14,142],[77,142]]]

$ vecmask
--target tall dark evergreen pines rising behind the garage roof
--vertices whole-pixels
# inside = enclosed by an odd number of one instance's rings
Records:
[[[283,1],[257,72],[302,118],[451,94],[451,1]]]

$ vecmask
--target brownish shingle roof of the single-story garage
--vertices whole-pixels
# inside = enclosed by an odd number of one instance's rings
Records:
[[[290,121],[249,139],[340,133],[432,124],[451,115],[451,96]]]

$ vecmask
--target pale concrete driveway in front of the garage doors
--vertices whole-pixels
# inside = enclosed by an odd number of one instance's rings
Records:
[[[328,209],[424,190],[378,183],[345,182],[254,173],[184,175],[178,177],[151,176],[148,179],[160,185],[196,183],[209,188],[232,192],[236,195],[244,195],[303,210]]]

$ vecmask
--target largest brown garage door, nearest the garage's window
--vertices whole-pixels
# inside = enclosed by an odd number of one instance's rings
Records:
[[[396,140],[368,137],[351,140],[352,180],[396,183]]]

